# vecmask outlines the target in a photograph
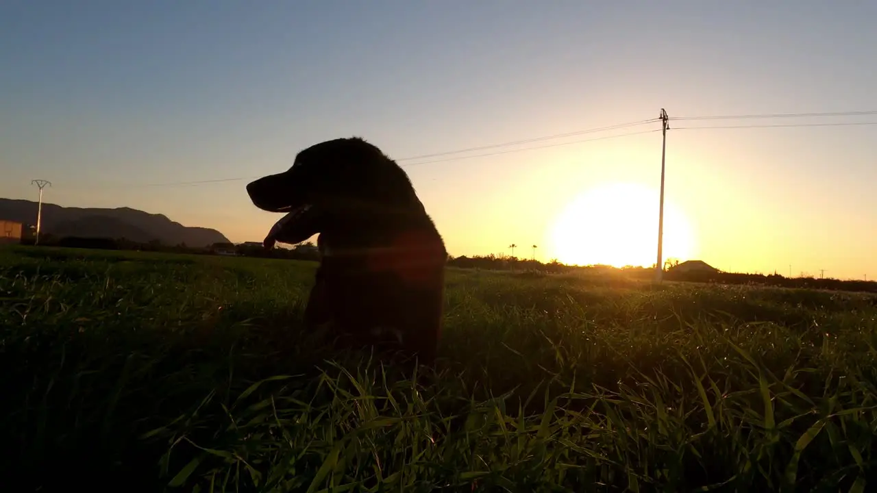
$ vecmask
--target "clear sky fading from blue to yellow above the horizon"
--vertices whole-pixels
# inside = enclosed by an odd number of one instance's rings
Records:
[[[662,107],[873,111],[875,20],[870,0],[5,0],[0,196],[36,199],[45,178],[47,202],[260,240],[278,217],[246,180],[146,185],[275,173],[351,135],[403,160]],[[877,278],[877,125],[673,128],[825,121],[877,115],[671,122],[666,256]],[[654,261],[660,132],[399,162],[454,255]]]

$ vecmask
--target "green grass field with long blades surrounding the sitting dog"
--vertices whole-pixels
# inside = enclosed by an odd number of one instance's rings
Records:
[[[403,375],[302,332],[315,267],[0,249],[0,483],[877,488],[877,298],[450,269]]]

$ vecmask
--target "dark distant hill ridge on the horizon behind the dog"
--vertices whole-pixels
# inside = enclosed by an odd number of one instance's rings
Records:
[[[36,202],[30,200],[0,198],[0,219],[32,225],[36,223],[37,206]],[[44,203],[42,232],[54,236],[125,238],[138,243],[157,239],[164,245],[185,243],[189,247],[230,242],[217,230],[184,226],[162,214],[150,214],[130,207],[83,209]]]

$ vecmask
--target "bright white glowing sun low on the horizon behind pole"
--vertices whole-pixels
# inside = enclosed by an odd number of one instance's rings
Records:
[[[557,259],[566,264],[654,265],[659,193],[636,183],[611,183],[578,196],[553,228]],[[687,218],[664,199],[664,259],[689,260],[695,238]]]

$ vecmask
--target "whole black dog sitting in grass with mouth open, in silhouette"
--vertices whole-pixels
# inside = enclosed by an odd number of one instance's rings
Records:
[[[321,253],[305,325],[329,325],[361,347],[401,343],[432,361],[444,304],[446,249],[408,176],[362,139],[335,139],[296,155],[285,173],[247,185],[253,204],[290,211],[266,239],[318,233]]]

